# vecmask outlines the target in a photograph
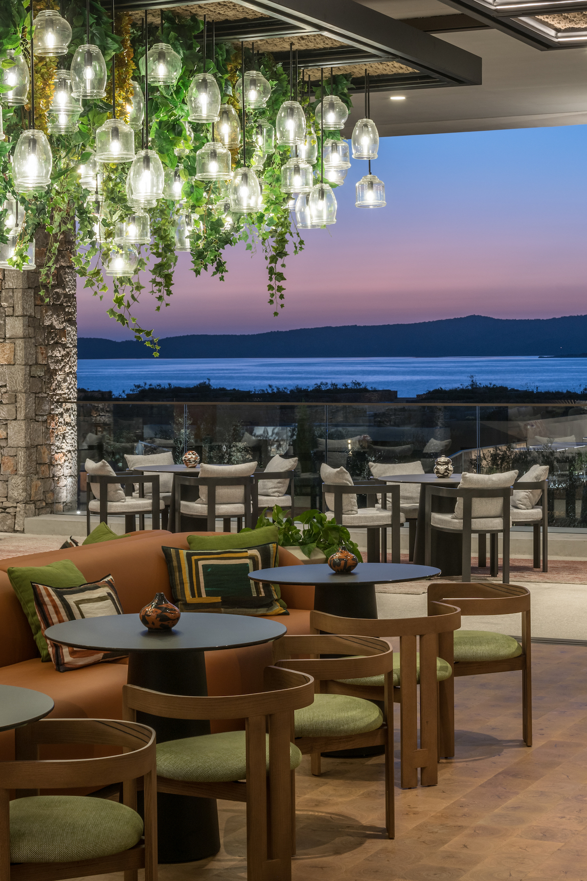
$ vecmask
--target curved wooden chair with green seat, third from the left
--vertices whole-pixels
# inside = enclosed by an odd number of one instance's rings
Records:
[[[385,828],[388,838],[394,838],[393,649],[390,644],[368,636],[282,636],[272,643],[272,650],[276,666],[300,670],[315,679],[314,703],[294,713],[294,744],[302,754],[309,753],[312,774],[321,774],[323,752],[384,746]],[[350,656],[320,656],[331,654]],[[372,676],[383,676],[383,709],[370,700],[328,693],[324,687],[332,679]]]

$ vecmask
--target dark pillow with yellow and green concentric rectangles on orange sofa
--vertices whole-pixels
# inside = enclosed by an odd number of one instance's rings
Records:
[[[270,584],[249,572],[275,566],[278,545],[225,551],[182,551],[163,547],[174,602],[180,611],[221,611],[232,615],[287,615]]]

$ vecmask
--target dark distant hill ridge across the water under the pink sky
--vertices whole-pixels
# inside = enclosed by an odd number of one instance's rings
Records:
[[[587,315],[488,318],[467,315],[413,324],[271,330],[258,334],[190,334],[160,339],[161,358],[442,358],[572,355],[583,352]],[[152,358],[141,343],[78,338],[78,358]]]

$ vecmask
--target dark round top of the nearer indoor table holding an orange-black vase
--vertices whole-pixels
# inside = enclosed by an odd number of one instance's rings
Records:
[[[286,627],[277,621],[246,615],[184,612],[173,630],[149,631],[138,615],[82,618],[48,627],[48,640],[73,648],[103,648],[116,652],[217,651],[257,646],[278,640]]]

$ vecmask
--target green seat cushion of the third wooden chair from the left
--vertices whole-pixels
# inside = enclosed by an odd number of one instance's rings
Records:
[[[295,737],[365,734],[383,725],[383,713],[371,700],[347,694],[315,694],[309,707],[295,710]]]

